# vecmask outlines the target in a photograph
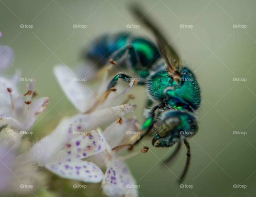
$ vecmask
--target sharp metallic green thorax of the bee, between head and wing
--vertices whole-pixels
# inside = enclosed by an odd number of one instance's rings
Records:
[[[153,99],[163,100],[167,97],[167,103],[175,108],[186,105],[197,109],[201,102],[198,82],[187,67],[182,68],[181,79],[175,86],[175,81],[170,78],[166,67],[163,66],[148,77],[147,89]]]

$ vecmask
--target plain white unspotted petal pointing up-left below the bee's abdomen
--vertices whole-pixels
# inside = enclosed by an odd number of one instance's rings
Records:
[[[74,106],[80,112],[88,110],[93,103],[93,93],[88,87],[82,86],[73,71],[65,65],[58,65],[54,67],[54,74],[62,90]]]

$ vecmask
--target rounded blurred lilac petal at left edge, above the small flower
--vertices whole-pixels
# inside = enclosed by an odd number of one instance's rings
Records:
[[[5,69],[13,60],[13,50],[5,45],[0,45],[0,70]]]

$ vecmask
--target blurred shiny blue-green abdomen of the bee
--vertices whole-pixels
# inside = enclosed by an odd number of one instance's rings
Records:
[[[97,44],[96,44],[96,43]],[[98,62],[100,66],[106,64],[109,59],[113,59],[118,50],[122,50],[126,45],[131,44],[135,51],[129,57],[129,62],[121,62],[120,66],[129,66],[142,78],[150,74],[154,63],[159,59],[157,46],[144,37],[134,36],[131,33],[105,34],[95,39],[85,57]]]

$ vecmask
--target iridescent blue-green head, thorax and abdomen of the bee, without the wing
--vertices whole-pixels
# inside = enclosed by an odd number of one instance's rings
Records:
[[[178,139],[177,136],[181,137],[180,134],[177,134],[178,131],[195,131],[197,126],[193,126],[193,129],[190,127],[190,123],[195,123],[195,118],[190,112],[199,107],[201,93],[195,75],[189,68],[182,67],[180,69],[181,77],[177,84],[167,72],[166,63],[157,46],[144,37],[136,37],[130,33],[106,34],[96,39],[96,42],[97,44],[94,43],[91,46],[86,57],[90,57],[102,65],[109,59],[113,59],[124,68],[130,67],[137,75],[145,79],[142,83],[147,85],[150,98],[164,103],[156,115],[157,121],[151,113],[142,124],[142,130],[154,128],[160,146],[173,144],[173,140]],[[131,77],[119,73],[111,79],[107,89],[110,90],[111,87],[114,87],[119,78],[129,81]],[[152,112],[155,110],[157,108]],[[179,127],[174,127],[173,119],[177,118],[180,124]],[[164,127],[169,130],[168,135],[166,132],[166,137],[158,133]]]

